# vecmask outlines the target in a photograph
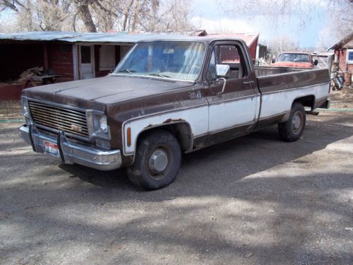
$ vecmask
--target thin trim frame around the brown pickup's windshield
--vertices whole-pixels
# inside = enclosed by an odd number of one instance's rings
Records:
[[[205,51],[203,52],[203,59],[202,59],[202,63],[201,63],[201,69],[198,73],[198,76],[194,79],[194,80],[190,80],[190,79],[178,79],[178,78],[162,78],[160,76],[146,76],[146,75],[142,75],[142,74],[136,74],[133,73],[132,74],[126,74],[126,73],[115,73],[116,69],[119,68],[120,64],[122,64],[122,62],[125,60],[126,57],[128,57],[129,54],[131,54],[131,52],[133,52],[133,49],[135,48],[136,45],[138,45],[139,43],[146,43],[146,42],[198,42],[201,43],[204,47],[205,47]],[[184,81],[184,82],[192,82],[195,83],[196,81],[198,81],[198,79],[200,78],[200,76],[203,73],[203,69],[204,69],[204,64],[205,64],[205,58],[206,58],[206,54],[207,54],[207,45],[205,44],[205,42],[201,41],[201,40],[148,40],[148,41],[140,41],[140,42],[136,42],[135,45],[133,45],[133,47],[131,47],[131,49],[124,55],[123,58],[121,58],[121,60],[119,61],[119,64],[116,65],[113,73],[109,73],[109,75],[111,76],[142,76],[142,77],[148,77],[148,78],[153,78],[153,79],[161,79],[161,80],[172,80],[172,81]]]

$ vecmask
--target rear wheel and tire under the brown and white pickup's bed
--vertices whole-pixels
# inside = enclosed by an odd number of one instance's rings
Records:
[[[299,102],[294,102],[287,122],[278,124],[278,134],[284,141],[297,141],[303,134],[305,123],[306,116],[303,105]]]

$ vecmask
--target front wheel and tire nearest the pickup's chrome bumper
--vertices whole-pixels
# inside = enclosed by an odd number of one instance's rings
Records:
[[[181,163],[179,142],[168,131],[152,131],[138,141],[135,162],[128,179],[142,189],[167,187],[177,176]]]

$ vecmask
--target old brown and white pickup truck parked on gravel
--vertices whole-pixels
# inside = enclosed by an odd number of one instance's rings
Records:
[[[306,112],[328,107],[327,69],[255,69],[242,40],[138,42],[114,73],[23,90],[33,151],[99,170],[127,167],[133,184],[160,189],[181,153],[278,124],[296,141]]]

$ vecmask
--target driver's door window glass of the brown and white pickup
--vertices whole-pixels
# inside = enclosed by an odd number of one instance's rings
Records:
[[[244,78],[248,75],[243,54],[237,45],[220,45],[220,64],[230,66],[229,79]]]

